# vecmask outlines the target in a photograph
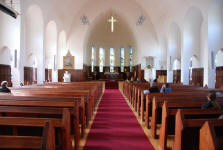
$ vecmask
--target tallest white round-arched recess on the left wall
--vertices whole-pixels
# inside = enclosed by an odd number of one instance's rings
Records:
[[[31,5],[27,8],[25,13],[25,53],[24,66],[33,67],[34,60],[29,60],[30,55],[34,55],[37,59],[37,82],[43,83],[45,80],[44,68],[44,22],[43,13],[38,5]],[[35,58],[32,57],[32,58]],[[26,60],[26,61],[25,61]],[[30,63],[31,62],[31,63]]]

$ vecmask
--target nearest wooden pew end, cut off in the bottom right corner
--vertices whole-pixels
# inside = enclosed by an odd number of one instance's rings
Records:
[[[206,121],[200,130],[200,150],[222,150],[223,132],[216,130],[223,128],[223,119]]]

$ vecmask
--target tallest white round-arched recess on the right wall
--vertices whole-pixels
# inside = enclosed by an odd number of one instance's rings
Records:
[[[201,27],[203,16],[200,9],[191,7],[188,9],[184,20],[183,32],[183,54],[182,54],[182,76],[183,83],[189,84],[189,65],[190,58],[197,56],[196,67],[201,67],[200,49],[201,49]]]

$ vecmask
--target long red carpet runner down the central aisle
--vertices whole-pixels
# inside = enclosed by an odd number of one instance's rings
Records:
[[[119,90],[105,90],[84,150],[154,150]]]

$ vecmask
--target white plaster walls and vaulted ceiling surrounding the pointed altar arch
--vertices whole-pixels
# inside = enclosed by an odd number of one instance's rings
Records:
[[[34,54],[38,59],[38,81],[41,83],[47,46],[45,29],[47,23],[54,20],[58,33],[58,68],[62,68],[62,56],[70,49],[75,56],[75,69],[82,69],[83,64],[89,62],[86,56],[93,26],[106,12],[112,11],[124,19],[135,39],[134,64],[141,63],[145,68],[145,56],[154,56],[156,69],[168,69],[169,56],[172,60],[181,59],[182,81],[188,84],[189,60],[196,55],[197,67],[204,67],[204,84],[212,84],[210,55],[223,47],[222,8],[222,0],[171,0],[165,3],[163,0],[65,0],[63,5],[61,0],[21,0],[21,27],[20,18],[14,20],[0,12],[0,63],[10,64],[9,53],[3,53],[3,47],[17,49],[21,57],[17,74],[22,81],[23,67],[32,66],[27,57]],[[83,15],[88,17],[90,25],[82,25],[80,17]],[[145,16],[146,21],[136,26],[140,15]],[[178,27],[171,29],[172,24]],[[61,35],[62,31],[66,36]]]

